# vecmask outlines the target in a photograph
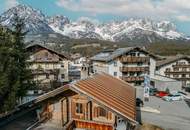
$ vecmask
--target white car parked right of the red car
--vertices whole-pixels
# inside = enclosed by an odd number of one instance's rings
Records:
[[[169,94],[168,96],[162,97],[163,100],[165,101],[181,101],[184,99],[184,97],[180,94]]]

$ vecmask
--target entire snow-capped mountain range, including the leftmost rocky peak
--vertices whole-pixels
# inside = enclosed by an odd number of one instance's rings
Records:
[[[71,21],[61,15],[46,17],[30,6],[18,5],[3,13],[0,24],[11,26],[14,13],[24,19],[30,34],[59,33],[70,38],[95,38],[110,41],[154,42],[158,40],[187,40],[170,21],[129,19],[98,23],[88,18]]]

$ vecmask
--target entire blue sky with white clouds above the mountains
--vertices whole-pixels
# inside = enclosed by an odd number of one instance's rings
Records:
[[[80,17],[100,22],[128,18],[169,20],[190,36],[189,0],[0,0],[0,13],[17,4],[30,5],[48,16],[62,14],[71,20]]]

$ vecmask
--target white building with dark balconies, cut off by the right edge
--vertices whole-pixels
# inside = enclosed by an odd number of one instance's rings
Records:
[[[179,80],[185,87],[190,84],[190,58],[183,55],[164,57],[156,64],[156,74]]]

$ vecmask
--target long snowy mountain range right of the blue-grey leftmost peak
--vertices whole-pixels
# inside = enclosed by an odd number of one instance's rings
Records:
[[[155,22],[149,19],[130,19],[104,24],[94,24],[91,21],[76,21],[66,24],[62,30],[58,30],[54,26],[51,27],[54,31],[72,38],[87,37],[111,41],[144,39],[149,42],[156,39],[185,38],[182,33],[177,32],[173,23],[169,21]]]

